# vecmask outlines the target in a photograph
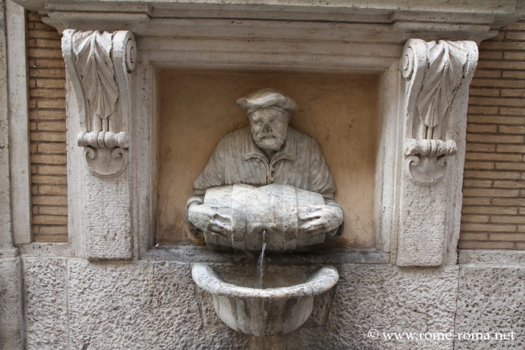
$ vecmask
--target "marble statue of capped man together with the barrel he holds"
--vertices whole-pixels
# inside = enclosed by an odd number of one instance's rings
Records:
[[[288,250],[337,239],[343,222],[319,144],[288,126],[298,105],[276,89],[237,100],[250,126],[227,133],[195,178],[186,214],[207,243]]]

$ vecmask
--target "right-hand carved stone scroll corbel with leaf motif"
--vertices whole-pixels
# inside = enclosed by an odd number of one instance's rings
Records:
[[[446,174],[457,152],[453,125],[460,118],[455,100],[470,83],[477,63],[472,41],[407,41],[401,60],[406,80],[404,172],[416,185],[430,186]],[[467,90],[468,92],[468,90]]]

